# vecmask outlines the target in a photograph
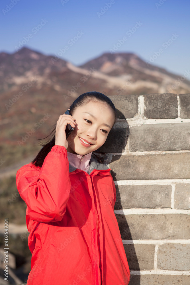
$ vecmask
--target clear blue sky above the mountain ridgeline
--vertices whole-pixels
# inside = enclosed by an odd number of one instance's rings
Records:
[[[75,65],[104,52],[133,52],[183,75],[190,70],[189,11],[188,0],[3,0],[0,52],[16,52],[23,42],[46,55],[61,49],[60,58]]]

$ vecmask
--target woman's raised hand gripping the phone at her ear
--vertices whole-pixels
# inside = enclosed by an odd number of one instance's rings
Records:
[[[65,148],[68,148],[68,141],[66,140],[65,133],[67,124],[70,124],[71,127],[75,127],[76,122],[71,115],[66,115],[64,113],[64,115],[59,116],[57,121],[55,145],[62,145]]]

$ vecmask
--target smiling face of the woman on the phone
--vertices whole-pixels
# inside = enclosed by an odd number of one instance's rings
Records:
[[[80,155],[95,151],[105,143],[115,119],[111,108],[106,103],[97,101],[78,107],[72,117],[76,125],[67,139],[67,151]],[[83,143],[80,138],[90,145]]]

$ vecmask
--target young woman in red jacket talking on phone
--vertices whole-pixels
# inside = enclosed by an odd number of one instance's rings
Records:
[[[128,285],[111,169],[92,157],[115,124],[115,106],[104,94],[88,92],[70,111],[16,175],[30,232],[27,285]],[[67,124],[74,127],[68,139]]]

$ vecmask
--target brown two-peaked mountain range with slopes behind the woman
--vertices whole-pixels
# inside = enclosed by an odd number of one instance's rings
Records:
[[[1,169],[34,155],[31,144],[50,133],[49,127],[80,94],[190,93],[190,82],[183,79],[134,53],[104,53],[75,66],[27,47],[13,54],[1,52]]]

